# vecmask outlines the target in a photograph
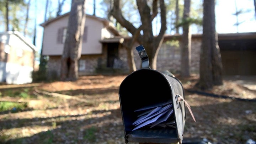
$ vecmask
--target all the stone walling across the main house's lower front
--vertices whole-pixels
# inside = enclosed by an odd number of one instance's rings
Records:
[[[137,44],[138,46],[138,44]],[[198,73],[199,71],[199,53],[201,48],[201,39],[193,38],[191,43],[191,73]],[[158,53],[157,70],[165,71],[169,70],[171,73],[179,73],[181,65],[180,44],[176,42],[176,45],[170,43],[163,43]],[[134,48],[134,61],[136,68],[139,69],[141,65],[141,59],[137,50]],[[110,74],[110,73],[122,73],[129,74],[129,65],[127,58],[127,50],[121,45],[118,49],[119,59],[118,67],[107,68],[107,45],[103,44],[102,54],[98,55],[82,55],[80,60],[85,60],[85,70],[79,71],[79,75],[95,75],[95,74]],[[61,56],[50,56],[48,61],[48,78],[58,79],[61,70]]]

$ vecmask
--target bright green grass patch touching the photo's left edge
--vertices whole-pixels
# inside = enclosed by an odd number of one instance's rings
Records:
[[[26,102],[0,102],[0,112],[11,111],[12,113],[25,110],[27,108]]]

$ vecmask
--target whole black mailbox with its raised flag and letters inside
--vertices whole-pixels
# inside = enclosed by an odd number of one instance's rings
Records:
[[[173,75],[150,69],[144,47],[136,49],[142,68],[129,74],[119,86],[124,140],[182,143],[186,120],[182,83]]]

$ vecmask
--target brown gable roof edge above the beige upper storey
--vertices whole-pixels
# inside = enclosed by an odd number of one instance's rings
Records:
[[[46,27],[47,25],[49,25],[50,23],[52,22],[55,22],[55,21],[58,21],[59,19],[63,18],[63,17],[66,17],[66,16],[69,16],[69,13],[66,13],[66,14],[63,14],[63,15],[60,15],[60,16],[57,16],[55,18],[52,18],[44,23],[41,23],[40,26],[42,27]],[[114,27],[113,23],[106,20],[105,18],[101,18],[101,17],[97,17],[97,16],[93,16],[93,15],[88,15],[86,14],[86,17],[90,17],[90,18],[94,18],[98,21],[101,21],[104,26],[109,30],[111,31],[115,36],[120,36],[119,32],[116,30],[116,27]]]

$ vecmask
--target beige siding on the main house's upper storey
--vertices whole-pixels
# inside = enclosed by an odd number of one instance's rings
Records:
[[[44,27],[43,55],[62,55],[64,44],[57,43],[58,30],[67,25],[68,16],[65,16]],[[81,54],[101,54],[102,45],[99,41],[111,34],[105,30],[103,22],[96,18],[86,17],[85,26],[88,27],[87,41],[82,44]]]

